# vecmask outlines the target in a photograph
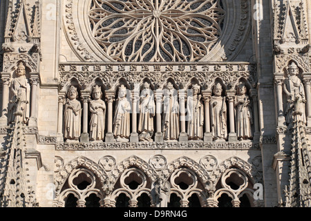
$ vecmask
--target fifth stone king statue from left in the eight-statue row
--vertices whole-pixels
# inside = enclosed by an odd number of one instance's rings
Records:
[[[162,133],[164,140],[178,140],[179,137],[179,104],[178,93],[171,82],[164,88]]]

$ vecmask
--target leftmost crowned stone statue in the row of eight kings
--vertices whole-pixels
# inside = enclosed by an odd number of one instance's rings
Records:
[[[65,104],[64,137],[66,142],[78,142],[81,135],[81,103],[75,86],[70,86]]]

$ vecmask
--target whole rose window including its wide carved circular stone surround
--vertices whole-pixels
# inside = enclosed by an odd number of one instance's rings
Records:
[[[251,27],[246,0],[66,0],[64,5],[65,33],[82,61],[229,60]]]

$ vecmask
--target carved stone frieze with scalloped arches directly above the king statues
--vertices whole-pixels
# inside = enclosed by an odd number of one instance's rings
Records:
[[[75,67],[73,69],[73,66]],[[100,79],[107,89],[115,88],[120,79],[125,79],[131,84],[142,83],[144,79],[149,79],[156,88],[163,88],[167,83],[167,79],[173,79],[175,84],[181,88],[187,88],[191,83],[191,79],[197,79],[201,86],[211,90],[216,78],[222,79],[228,88],[234,88],[238,81],[243,78],[249,82],[249,85],[256,88],[256,65],[245,63],[241,68],[241,63],[232,63],[228,68],[228,64],[196,64],[196,71],[192,70],[194,65],[187,63],[173,64],[100,64],[101,71],[93,71],[91,65],[88,69],[84,68],[84,63],[60,64],[59,66],[59,82],[62,88],[66,88],[72,79],[75,79],[83,88],[89,88],[95,84],[96,79]],[[135,71],[133,70],[135,66]],[[148,68],[146,68],[148,67]],[[182,67],[182,68],[181,68]],[[191,69],[192,67],[192,69]],[[214,67],[216,70],[211,70]],[[168,70],[169,68],[169,70]],[[146,71],[148,70],[148,71]]]

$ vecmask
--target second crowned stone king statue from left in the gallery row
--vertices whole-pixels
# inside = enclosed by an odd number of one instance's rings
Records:
[[[104,140],[106,104],[102,100],[102,90],[100,86],[93,89],[93,100],[90,102],[90,140]]]

